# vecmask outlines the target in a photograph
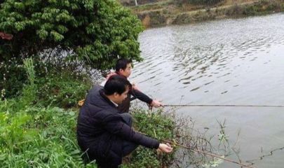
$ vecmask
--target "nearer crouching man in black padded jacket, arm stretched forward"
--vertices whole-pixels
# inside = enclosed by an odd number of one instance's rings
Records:
[[[96,85],[88,93],[80,109],[77,123],[77,139],[82,151],[99,167],[119,167],[123,156],[138,145],[159,148],[170,153],[169,144],[135,132],[129,113],[120,113],[118,104],[126,99],[131,84],[121,76],[111,76],[104,87]]]

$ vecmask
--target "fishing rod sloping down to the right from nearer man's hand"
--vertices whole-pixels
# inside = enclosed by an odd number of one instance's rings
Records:
[[[195,151],[195,152],[198,152],[198,153],[203,153],[204,155],[210,155],[210,156],[212,156],[212,157],[225,160],[225,161],[227,161],[227,162],[236,163],[237,165],[241,165],[242,167],[255,168],[255,167],[252,167],[252,166],[250,166],[250,165],[244,165],[244,164],[241,163],[241,162],[236,162],[236,161],[234,161],[234,160],[230,160],[230,159],[227,159],[227,158],[223,158],[222,156],[219,156],[219,155],[217,155],[217,154],[215,154],[215,153],[209,153],[209,152],[207,152],[207,151],[201,151],[201,150],[198,150],[198,149],[190,148],[189,146],[184,146],[184,145],[181,145],[181,144],[177,144],[177,143],[175,143],[175,142],[173,142],[173,141],[167,141],[167,140],[162,140],[162,141],[167,142],[167,143],[170,143],[170,144],[174,144],[174,145],[176,145],[176,146],[180,146],[180,147],[182,147],[182,148],[187,148],[187,149],[189,149],[190,151]]]

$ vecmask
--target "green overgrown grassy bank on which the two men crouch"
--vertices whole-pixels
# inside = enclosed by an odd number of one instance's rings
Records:
[[[85,165],[76,141],[77,102],[90,89],[90,76],[62,69],[39,76],[32,59],[23,68],[28,81],[19,96],[0,99],[0,167],[97,167]],[[135,130],[156,139],[173,139],[175,122],[165,114],[133,111]],[[158,127],[156,127],[158,125]],[[172,155],[139,148],[123,167],[164,167]]]

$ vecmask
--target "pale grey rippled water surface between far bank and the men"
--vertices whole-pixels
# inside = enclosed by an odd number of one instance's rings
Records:
[[[179,104],[182,97],[182,104],[283,105],[283,22],[284,14],[276,14],[149,29],[140,35],[144,61],[135,62],[131,80],[164,104]],[[216,120],[226,118],[229,132],[243,130],[242,156],[250,160],[261,155],[259,148],[264,146],[267,152],[283,147],[283,141],[269,138],[272,132],[284,140],[280,111],[184,108],[179,113],[193,116],[201,127],[214,127]],[[257,126],[265,129],[259,132]],[[256,144],[250,146],[252,140]],[[262,161],[257,167],[266,164]]]

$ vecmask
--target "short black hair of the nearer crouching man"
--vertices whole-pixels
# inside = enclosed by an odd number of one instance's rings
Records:
[[[111,76],[107,83],[104,85],[104,94],[111,95],[117,92],[118,94],[122,94],[126,91],[126,88],[131,89],[130,82],[123,76],[114,75]]]

